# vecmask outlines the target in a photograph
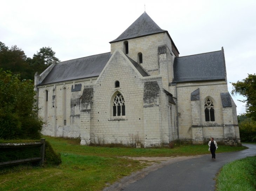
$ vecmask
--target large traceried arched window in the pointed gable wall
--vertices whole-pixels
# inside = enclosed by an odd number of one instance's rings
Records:
[[[125,102],[120,93],[113,98],[113,116],[125,116]]]

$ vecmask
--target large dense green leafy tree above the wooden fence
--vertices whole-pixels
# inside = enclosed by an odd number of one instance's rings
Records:
[[[39,139],[43,122],[38,118],[32,80],[0,69],[0,139]]]

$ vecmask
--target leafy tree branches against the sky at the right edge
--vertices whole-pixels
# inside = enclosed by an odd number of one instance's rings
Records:
[[[246,97],[246,100],[238,100],[245,104],[245,115],[251,117],[252,120],[256,120],[256,75],[248,74],[248,77],[242,81],[232,83],[233,90],[231,94],[240,94]]]

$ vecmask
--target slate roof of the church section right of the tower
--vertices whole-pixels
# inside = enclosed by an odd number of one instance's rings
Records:
[[[174,59],[173,82],[224,80],[225,61],[222,51],[207,52]]]

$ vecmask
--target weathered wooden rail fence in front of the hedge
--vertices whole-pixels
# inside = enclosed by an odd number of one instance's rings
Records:
[[[27,147],[27,146],[36,146],[41,145],[40,155],[41,157],[35,157],[31,159],[22,159],[16,161],[0,162],[0,167],[21,164],[26,162],[35,162],[39,161],[39,164],[43,164],[45,161],[45,139],[41,139],[41,142],[28,142],[28,143],[0,143],[0,148],[16,148],[16,147]]]

